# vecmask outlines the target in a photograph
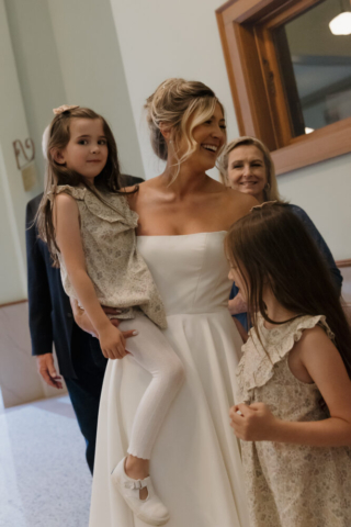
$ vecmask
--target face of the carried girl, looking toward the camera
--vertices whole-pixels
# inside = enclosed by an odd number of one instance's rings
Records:
[[[93,183],[107,161],[109,147],[101,119],[73,117],[70,139],[56,154],[56,161],[80,173]]]

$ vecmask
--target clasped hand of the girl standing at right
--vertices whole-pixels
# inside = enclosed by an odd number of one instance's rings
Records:
[[[238,413],[240,412],[240,413]],[[276,417],[263,403],[237,404],[229,412],[235,435],[245,441],[272,441]]]

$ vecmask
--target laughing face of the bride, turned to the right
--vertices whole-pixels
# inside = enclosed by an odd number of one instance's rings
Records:
[[[226,122],[218,103],[212,116],[193,128],[192,136],[196,146],[188,161],[195,165],[196,169],[210,170],[215,166],[220,149],[227,139]],[[180,150],[185,149],[182,143],[180,144]]]

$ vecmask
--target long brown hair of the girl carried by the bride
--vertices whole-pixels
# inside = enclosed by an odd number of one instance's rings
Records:
[[[45,190],[41,201],[38,212],[35,216],[39,237],[47,243],[48,249],[53,257],[54,266],[58,266],[57,251],[59,250],[55,240],[55,227],[53,223],[53,198],[56,194],[58,186],[69,184],[77,187],[83,184],[90,192],[94,193],[100,199],[99,192],[91,186],[87,184],[84,178],[66,167],[55,161],[53,157],[53,148],[65,148],[70,139],[69,125],[71,119],[100,119],[103,125],[103,132],[106,137],[109,155],[107,161],[94,179],[94,186],[100,191],[120,192],[121,189],[121,170],[118,161],[117,145],[112,134],[107,122],[89,108],[73,108],[66,110],[56,115],[49,126],[49,138],[46,146],[46,175],[45,175]]]

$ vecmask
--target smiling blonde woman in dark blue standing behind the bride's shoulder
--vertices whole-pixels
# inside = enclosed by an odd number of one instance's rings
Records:
[[[218,168],[222,182],[226,187],[252,195],[259,203],[282,201],[278,190],[274,162],[270,150],[256,137],[244,136],[230,141],[224,148]],[[287,206],[302,220],[317,244],[340,293],[342,277],[321,234],[303,209],[292,204]],[[228,307],[236,321],[248,330],[247,305],[242,301],[235,283],[231,288]],[[242,333],[242,335],[245,334]]]

